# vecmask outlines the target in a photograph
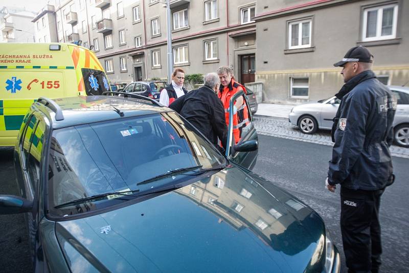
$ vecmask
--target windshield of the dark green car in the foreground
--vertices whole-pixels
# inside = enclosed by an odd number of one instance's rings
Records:
[[[104,193],[143,195],[152,189],[193,183],[197,179],[192,175],[223,167],[225,158],[190,127],[176,113],[167,112],[54,130],[50,213],[66,216],[105,208],[130,198],[110,195],[55,207]],[[182,168],[191,169],[178,170]],[[148,181],[155,176],[161,177]]]

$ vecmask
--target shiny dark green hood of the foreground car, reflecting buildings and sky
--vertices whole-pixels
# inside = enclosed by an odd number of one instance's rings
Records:
[[[74,272],[302,272],[321,271],[324,260],[322,219],[234,166],[118,210],[56,222],[55,229]]]

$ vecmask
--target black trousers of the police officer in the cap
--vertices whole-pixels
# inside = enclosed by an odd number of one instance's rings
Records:
[[[341,188],[341,232],[348,272],[378,272],[382,253],[379,204],[383,190]]]

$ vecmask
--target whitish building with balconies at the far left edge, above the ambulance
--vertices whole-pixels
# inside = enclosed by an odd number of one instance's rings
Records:
[[[0,42],[33,42],[35,13],[16,7],[0,8]]]

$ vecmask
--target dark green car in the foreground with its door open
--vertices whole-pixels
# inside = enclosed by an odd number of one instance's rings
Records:
[[[36,271],[339,272],[322,218],[246,169],[251,120],[222,154],[171,109],[124,96],[40,98],[25,116],[21,196],[0,195],[0,213],[26,213]]]

